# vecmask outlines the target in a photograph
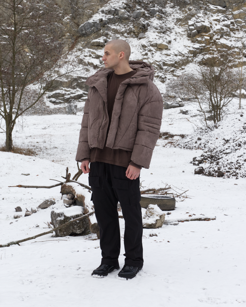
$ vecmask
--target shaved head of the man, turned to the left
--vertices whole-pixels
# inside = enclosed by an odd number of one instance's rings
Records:
[[[107,42],[104,48],[104,56],[102,57],[105,68],[115,69],[122,65],[129,65],[130,54],[131,48],[126,41],[115,39]]]

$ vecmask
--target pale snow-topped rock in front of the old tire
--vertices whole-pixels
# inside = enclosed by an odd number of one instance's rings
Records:
[[[165,220],[165,213],[157,205],[149,205],[143,216],[143,228],[162,227]]]

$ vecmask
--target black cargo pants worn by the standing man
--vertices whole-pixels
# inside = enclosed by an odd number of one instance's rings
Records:
[[[92,188],[97,223],[100,228],[101,264],[119,265],[121,237],[117,204],[125,220],[125,264],[143,266],[142,214],[140,182],[128,179],[126,167],[105,162],[90,163],[89,185]]]

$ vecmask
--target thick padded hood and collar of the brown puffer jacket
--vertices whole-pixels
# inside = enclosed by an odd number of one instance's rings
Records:
[[[148,83],[149,79],[151,81],[154,80],[155,69],[152,65],[143,61],[129,61],[129,66],[137,72],[131,78],[123,81],[122,83]],[[112,68],[99,69],[94,75],[88,77],[85,84],[94,86],[99,80],[103,81],[104,83],[106,81],[105,77],[107,77],[111,72],[113,72]]]

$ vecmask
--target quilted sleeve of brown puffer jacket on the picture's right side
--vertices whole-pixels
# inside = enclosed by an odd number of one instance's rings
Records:
[[[163,99],[160,91],[152,84],[146,93],[145,102],[142,104],[137,119],[137,136],[133,147],[131,160],[148,169],[160,136],[161,119],[163,112]]]

